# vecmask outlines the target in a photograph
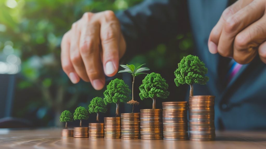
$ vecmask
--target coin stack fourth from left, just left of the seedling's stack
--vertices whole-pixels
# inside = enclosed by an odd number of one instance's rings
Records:
[[[121,137],[121,118],[105,117],[104,118],[104,138],[119,139]]]

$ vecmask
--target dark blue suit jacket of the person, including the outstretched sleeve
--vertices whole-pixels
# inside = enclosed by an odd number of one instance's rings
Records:
[[[197,55],[208,68],[209,82],[194,85],[194,95],[214,95],[217,129],[266,129],[266,64],[256,57],[225,83],[229,58],[209,53],[211,29],[228,6],[221,0],[146,0],[117,17],[130,55],[167,41],[189,28],[194,35]]]

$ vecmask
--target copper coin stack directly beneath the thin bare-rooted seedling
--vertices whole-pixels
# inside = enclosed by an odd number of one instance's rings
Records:
[[[121,139],[140,138],[140,113],[121,113]]]

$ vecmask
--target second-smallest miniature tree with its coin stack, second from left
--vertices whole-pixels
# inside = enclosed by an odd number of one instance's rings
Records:
[[[77,107],[77,109],[75,110],[74,120],[80,120],[80,127],[74,127],[73,136],[75,138],[89,137],[88,127],[81,127],[82,120],[87,120],[89,118],[88,114],[89,114],[88,110],[86,110],[84,107]]]

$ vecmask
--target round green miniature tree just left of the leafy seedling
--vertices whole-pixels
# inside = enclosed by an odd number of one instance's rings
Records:
[[[104,103],[115,103],[117,105],[115,114],[119,116],[119,103],[125,103],[130,100],[130,89],[123,80],[114,79],[107,85],[107,89],[103,92]]]

